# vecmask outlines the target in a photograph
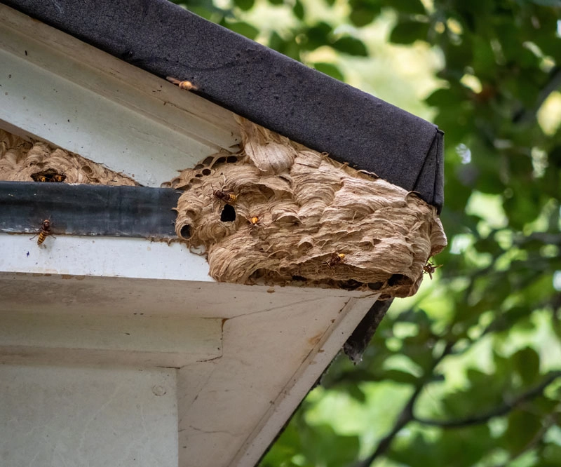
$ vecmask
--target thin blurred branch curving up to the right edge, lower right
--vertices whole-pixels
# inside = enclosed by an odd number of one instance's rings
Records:
[[[543,393],[547,386],[549,386],[551,383],[553,383],[553,381],[555,381],[555,379],[559,377],[561,377],[561,371],[551,372],[549,376],[546,377],[546,379],[544,379],[541,384],[539,384],[535,388],[529,389],[529,391],[520,394],[511,402],[505,402],[503,405],[495,407],[494,409],[482,414],[472,415],[471,417],[457,420],[431,420],[413,416],[413,420],[417,421],[419,424],[438,426],[440,428],[463,428],[464,426],[484,424],[490,419],[494,419],[495,417],[502,417],[503,415],[508,414],[508,412],[511,412],[511,410],[513,410],[515,407],[518,407],[518,405],[522,404],[522,402],[526,402],[527,400],[532,400],[538,397]]]

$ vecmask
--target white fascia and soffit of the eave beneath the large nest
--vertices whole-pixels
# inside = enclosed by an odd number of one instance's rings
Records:
[[[0,234],[0,365],[173,370],[181,467],[253,467],[377,298],[217,283],[179,244],[45,243]],[[10,429],[0,423],[0,438]],[[100,449],[101,459],[114,445]]]

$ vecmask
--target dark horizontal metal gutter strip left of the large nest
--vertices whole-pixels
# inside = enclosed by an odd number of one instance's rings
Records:
[[[176,238],[179,197],[170,188],[0,182],[0,231],[36,234],[50,218],[55,235]]]

